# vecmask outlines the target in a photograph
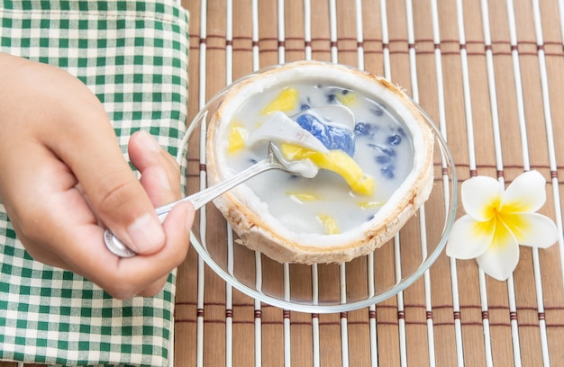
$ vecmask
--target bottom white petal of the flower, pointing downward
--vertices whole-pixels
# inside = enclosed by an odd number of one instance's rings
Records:
[[[505,281],[519,263],[519,245],[502,223],[497,224],[491,245],[476,260],[484,273],[498,281]]]

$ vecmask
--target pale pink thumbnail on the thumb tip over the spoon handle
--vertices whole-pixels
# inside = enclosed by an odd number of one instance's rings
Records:
[[[127,228],[132,239],[132,250],[143,254],[156,251],[165,241],[165,232],[159,221],[149,213],[143,214]]]

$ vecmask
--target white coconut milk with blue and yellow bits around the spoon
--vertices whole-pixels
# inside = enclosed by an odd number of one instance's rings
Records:
[[[327,233],[327,218],[339,233],[370,220],[381,205],[405,180],[414,165],[414,148],[409,131],[398,121],[386,103],[353,89],[333,85],[296,83],[298,102],[287,115],[292,117],[307,109],[326,104],[343,104],[355,116],[355,148],[353,158],[365,174],[371,175],[376,189],[370,196],[352,192],[343,177],[320,170],[307,179],[281,171],[269,171],[248,181],[268,211],[285,227],[296,233]],[[277,98],[283,87],[272,87],[241,105],[231,124],[242,126],[247,133],[268,118],[263,108]],[[225,163],[239,172],[267,155],[267,141],[259,141],[236,152],[222,154]]]

